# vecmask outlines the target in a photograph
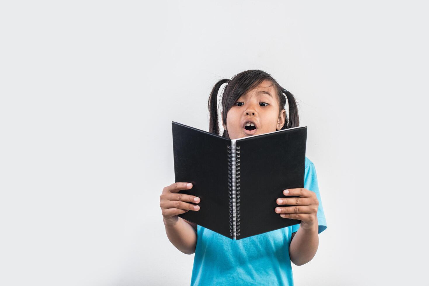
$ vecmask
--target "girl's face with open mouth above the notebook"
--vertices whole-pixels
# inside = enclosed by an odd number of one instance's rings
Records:
[[[285,119],[284,109],[279,112],[278,95],[274,85],[271,81],[264,80],[253,90],[240,96],[227,113],[226,128],[223,123],[222,125],[227,129],[230,139],[237,139],[280,130]],[[253,122],[256,129],[246,130],[245,123],[248,121]],[[248,129],[252,128],[248,126]]]

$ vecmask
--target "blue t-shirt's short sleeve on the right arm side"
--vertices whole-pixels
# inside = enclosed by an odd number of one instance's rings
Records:
[[[319,225],[319,233],[320,233],[327,228],[327,225],[326,225],[325,213],[323,212],[322,199],[320,198],[319,185],[317,184],[316,168],[314,167],[314,164],[307,157],[305,157],[305,160],[308,161],[308,166],[305,168],[304,188],[316,193],[317,200],[319,201],[319,208],[317,209],[317,222]],[[301,225],[300,223],[293,225],[292,233],[297,232],[300,225]]]

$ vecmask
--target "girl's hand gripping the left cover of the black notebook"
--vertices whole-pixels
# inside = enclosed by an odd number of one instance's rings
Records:
[[[190,187],[187,187],[190,184]],[[179,217],[178,214],[187,211],[198,211],[199,205],[189,204],[187,202],[199,203],[200,199],[196,196],[178,193],[180,190],[189,190],[192,188],[191,183],[173,183],[164,187],[160,196],[160,207],[166,223],[175,224]]]

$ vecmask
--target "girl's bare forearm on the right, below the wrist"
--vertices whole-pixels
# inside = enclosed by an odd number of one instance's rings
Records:
[[[312,229],[298,229],[289,245],[290,261],[293,264],[300,266],[313,259],[319,246],[318,229],[317,223]]]

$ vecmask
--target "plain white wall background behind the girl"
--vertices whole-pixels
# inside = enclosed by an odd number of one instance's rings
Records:
[[[178,3],[181,2],[181,3]],[[221,78],[299,102],[328,228],[296,285],[427,285],[423,1],[2,1],[0,284],[189,285],[171,121]]]

